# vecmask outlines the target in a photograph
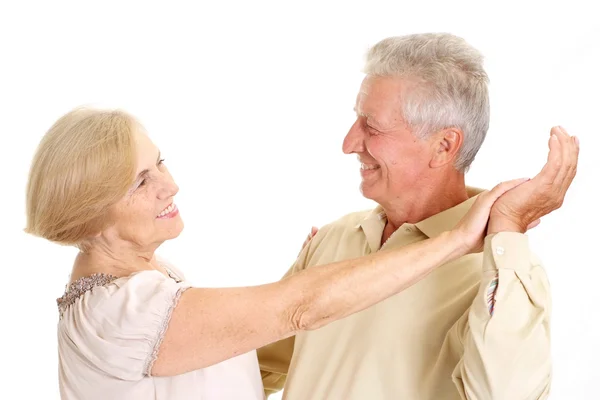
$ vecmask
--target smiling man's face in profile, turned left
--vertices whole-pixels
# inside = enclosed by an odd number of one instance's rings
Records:
[[[356,99],[356,122],[343,144],[361,163],[361,192],[379,204],[415,196],[430,171],[432,145],[413,135],[402,116],[402,94],[410,82],[367,76]]]

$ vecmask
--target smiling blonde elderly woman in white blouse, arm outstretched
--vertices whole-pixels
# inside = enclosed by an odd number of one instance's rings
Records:
[[[26,231],[80,249],[58,299],[63,399],[262,399],[254,349],[360,311],[479,250],[492,204],[523,181],[481,195],[437,238],[276,283],[208,289],[155,255],[183,229],[163,161],[121,111],[71,111],[37,149]]]

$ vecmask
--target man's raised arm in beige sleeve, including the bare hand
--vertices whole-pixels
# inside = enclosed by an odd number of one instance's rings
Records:
[[[453,373],[463,399],[538,400],[550,392],[550,289],[524,233],[561,207],[579,141],[554,127],[548,145],[541,172],[492,207],[479,292],[454,330],[464,347]]]

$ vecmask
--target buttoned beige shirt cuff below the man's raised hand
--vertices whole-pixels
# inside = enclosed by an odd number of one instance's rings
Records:
[[[531,268],[529,238],[518,232],[498,232],[485,238],[483,270],[511,269],[529,271]]]

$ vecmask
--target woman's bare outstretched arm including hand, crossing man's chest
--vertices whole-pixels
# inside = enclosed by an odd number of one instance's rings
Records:
[[[152,375],[216,364],[402,291],[437,266],[480,250],[491,206],[522,182],[504,182],[482,193],[455,229],[433,239],[310,268],[267,285],[188,289],[173,311]]]

